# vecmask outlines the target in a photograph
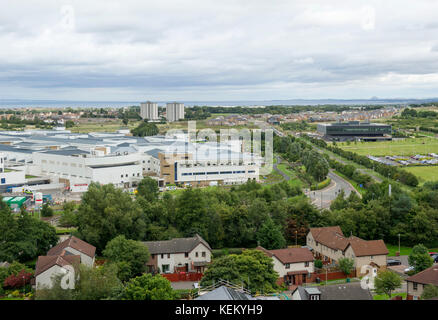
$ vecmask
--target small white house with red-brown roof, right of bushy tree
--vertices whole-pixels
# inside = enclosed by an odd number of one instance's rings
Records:
[[[307,248],[286,248],[267,250],[258,246],[274,261],[274,270],[279,274],[281,282],[286,285],[301,285],[310,282],[311,274],[315,271],[313,254]]]

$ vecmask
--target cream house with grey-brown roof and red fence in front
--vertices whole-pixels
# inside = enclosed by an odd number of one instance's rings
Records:
[[[151,254],[151,258],[147,263],[149,272],[203,273],[211,262],[210,245],[198,234],[191,238],[143,243],[148,247]]]

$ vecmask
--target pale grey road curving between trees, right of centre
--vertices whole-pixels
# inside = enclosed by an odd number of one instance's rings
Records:
[[[346,197],[348,197],[351,192],[357,192],[350,183],[337,174],[329,172],[328,177],[332,180],[328,187],[322,190],[305,191],[305,194],[310,197],[312,203],[320,209],[329,208],[341,190],[344,190]]]

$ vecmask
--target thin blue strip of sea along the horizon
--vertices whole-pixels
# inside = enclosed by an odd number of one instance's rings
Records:
[[[272,105],[394,105],[438,102],[438,98],[429,99],[290,99],[290,100],[234,100],[234,101],[184,101],[187,107],[190,106],[272,106]],[[138,106],[141,101],[66,101],[66,100],[14,100],[0,99],[0,109],[13,108],[122,108],[127,106]],[[164,106],[169,101],[156,101],[158,105]]]

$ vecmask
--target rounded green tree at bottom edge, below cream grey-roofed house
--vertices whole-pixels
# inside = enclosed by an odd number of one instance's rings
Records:
[[[150,273],[129,280],[125,288],[125,300],[173,300],[175,293],[170,281]]]

